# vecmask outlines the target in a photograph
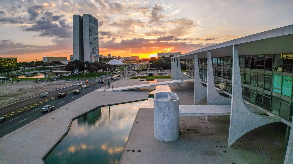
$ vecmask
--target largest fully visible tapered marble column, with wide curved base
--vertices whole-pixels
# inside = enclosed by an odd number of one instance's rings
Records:
[[[263,116],[252,113],[243,103],[241,77],[238,51],[233,45],[233,78],[232,78],[232,101],[228,146],[230,147],[238,138],[245,133],[273,122],[281,121],[277,116]]]

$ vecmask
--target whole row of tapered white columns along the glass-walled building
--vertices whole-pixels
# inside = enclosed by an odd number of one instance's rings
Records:
[[[194,54],[194,105],[201,99],[207,97],[207,105],[228,105],[231,104],[231,116],[229,125],[229,138],[228,146],[230,147],[238,138],[245,133],[273,122],[279,122],[281,119],[277,116],[264,116],[255,114],[249,111],[243,102],[242,88],[241,88],[241,76],[239,67],[239,54],[237,46],[233,45],[233,71],[232,71],[232,99],[221,96],[214,86],[214,73],[212,68],[211,52],[207,51],[208,67],[207,67],[207,87],[204,87],[200,80],[198,59]],[[175,66],[175,70],[172,77],[174,80],[178,80],[178,64],[177,60],[172,59],[172,67]],[[176,68],[177,67],[177,68]],[[176,70],[177,69],[177,70]],[[180,71],[181,74],[181,71]],[[176,77],[177,76],[177,77]],[[291,126],[291,132],[289,136],[289,142],[287,152],[284,160],[284,164],[293,163],[293,129]]]

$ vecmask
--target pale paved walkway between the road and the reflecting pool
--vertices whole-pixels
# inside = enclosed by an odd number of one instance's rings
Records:
[[[128,84],[145,84],[139,80],[129,80]],[[114,86],[123,84],[114,82]],[[71,121],[98,106],[146,100],[149,91],[91,92],[80,99],[53,110],[48,115],[14,131],[0,139],[0,164],[37,164],[58,141],[63,138]],[[0,132],[1,133],[1,132]]]

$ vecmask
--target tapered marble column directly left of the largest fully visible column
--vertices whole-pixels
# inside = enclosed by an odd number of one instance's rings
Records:
[[[231,99],[221,96],[214,82],[213,63],[211,52],[207,51],[207,105],[230,105]]]

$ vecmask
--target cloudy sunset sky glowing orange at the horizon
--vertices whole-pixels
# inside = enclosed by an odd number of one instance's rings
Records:
[[[72,16],[99,21],[99,54],[187,53],[293,24],[292,0],[1,0],[0,56],[73,54]]]

